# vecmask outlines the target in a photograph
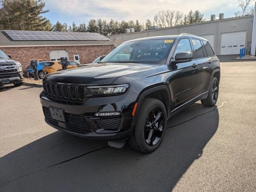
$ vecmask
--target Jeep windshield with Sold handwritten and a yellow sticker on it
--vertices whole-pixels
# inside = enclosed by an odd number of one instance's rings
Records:
[[[165,64],[174,39],[153,39],[121,44],[101,60],[103,63]]]

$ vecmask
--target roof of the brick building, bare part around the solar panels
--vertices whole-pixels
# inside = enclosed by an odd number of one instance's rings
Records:
[[[88,40],[36,40],[36,41],[14,41],[3,30],[0,30],[0,47],[34,47],[34,46],[90,46],[90,45],[114,45],[109,41]]]

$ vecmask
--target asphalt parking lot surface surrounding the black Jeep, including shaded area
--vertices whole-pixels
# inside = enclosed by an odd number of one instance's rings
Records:
[[[220,95],[168,121],[151,154],[44,122],[42,88],[0,88],[0,191],[256,190],[256,61],[221,63]]]

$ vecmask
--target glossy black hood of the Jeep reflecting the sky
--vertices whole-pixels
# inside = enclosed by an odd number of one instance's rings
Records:
[[[89,64],[69,70],[62,70],[50,73],[43,80],[48,82],[103,85],[112,84],[115,79],[148,71],[148,75],[153,73],[154,69],[159,67],[155,64],[132,64],[132,63],[98,63]]]

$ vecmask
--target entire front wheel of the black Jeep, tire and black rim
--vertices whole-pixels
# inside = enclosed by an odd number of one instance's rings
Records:
[[[154,122],[151,120],[153,117]],[[167,114],[164,104],[158,99],[146,98],[139,108],[133,134],[128,139],[129,145],[144,153],[155,151],[163,140],[166,125]]]

